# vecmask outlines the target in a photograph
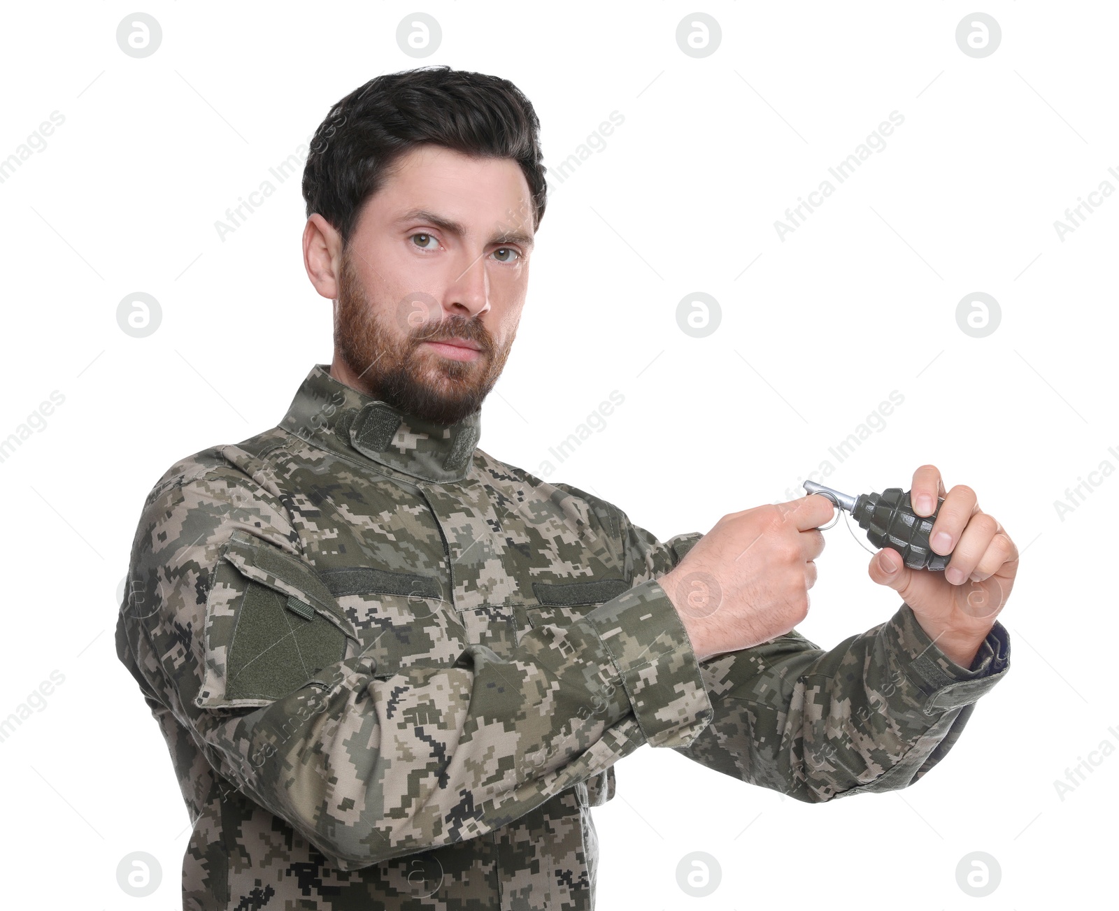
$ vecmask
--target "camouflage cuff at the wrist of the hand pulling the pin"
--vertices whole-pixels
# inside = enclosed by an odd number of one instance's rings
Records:
[[[651,746],[690,746],[714,712],[687,630],[655,579],[584,616],[610,655]]]

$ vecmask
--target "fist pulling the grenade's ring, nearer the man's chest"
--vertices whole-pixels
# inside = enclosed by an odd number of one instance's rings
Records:
[[[781,636],[808,614],[829,499],[811,494],[723,516],[657,582],[702,661]]]

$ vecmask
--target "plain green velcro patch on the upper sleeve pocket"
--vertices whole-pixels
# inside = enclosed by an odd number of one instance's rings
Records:
[[[298,598],[246,580],[226,658],[225,697],[283,698],[345,657],[346,633],[330,620]]]

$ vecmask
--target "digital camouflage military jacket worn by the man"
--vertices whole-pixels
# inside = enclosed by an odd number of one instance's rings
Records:
[[[317,365],[279,426],[148,496],[116,630],[192,823],[185,909],[590,909],[642,744],[806,801],[903,788],[1006,671],[904,604],[698,661],[618,507]],[[728,782],[728,787],[733,787]]]

